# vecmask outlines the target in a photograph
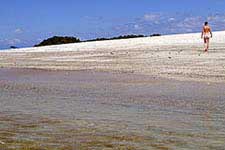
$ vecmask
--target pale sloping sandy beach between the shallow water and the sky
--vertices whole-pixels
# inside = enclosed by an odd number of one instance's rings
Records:
[[[225,82],[225,31],[203,52],[200,33],[86,42],[0,52],[1,67],[131,72]]]

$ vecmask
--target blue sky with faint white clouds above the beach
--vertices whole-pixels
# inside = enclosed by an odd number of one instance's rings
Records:
[[[52,36],[81,40],[127,34],[225,30],[225,0],[1,0],[0,49]]]

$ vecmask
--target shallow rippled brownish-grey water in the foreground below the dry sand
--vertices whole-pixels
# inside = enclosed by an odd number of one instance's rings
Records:
[[[129,72],[2,68],[0,149],[222,150],[224,89]]]

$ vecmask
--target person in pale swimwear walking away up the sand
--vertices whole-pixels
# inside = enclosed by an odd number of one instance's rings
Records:
[[[203,26],[201,37],[204,39],[204,48],[205,52],[207,52],[209,50],[209,39],[212,38],[212,31],[208,22],[205,22],[205,25]]]

